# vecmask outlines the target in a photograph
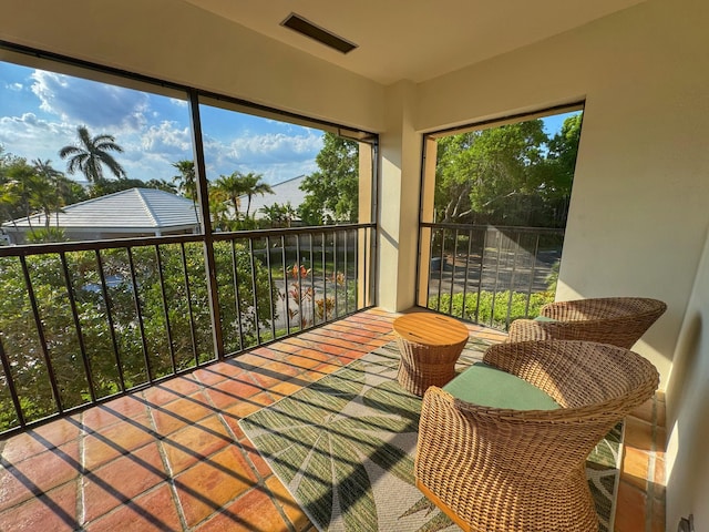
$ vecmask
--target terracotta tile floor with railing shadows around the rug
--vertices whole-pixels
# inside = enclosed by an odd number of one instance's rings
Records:
[[[237,421],[390,341],[395,316],[357,314],[0,441],[0,531],[315,530]],[[660,397],[628,420],[617,532],[664,530],[664,412]]]

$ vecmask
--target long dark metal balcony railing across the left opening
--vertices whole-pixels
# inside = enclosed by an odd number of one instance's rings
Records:
[[[374,227],[0,247],[0,434],[371,306]]]

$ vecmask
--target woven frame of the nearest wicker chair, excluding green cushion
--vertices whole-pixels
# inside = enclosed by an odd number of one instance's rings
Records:
[[[500,344],[484,361],[561,408],[503,410],[429,388],[417,485],[466,531],[597,531],[585,460],[653,396],[657,370],[633,351],[587,341]]]

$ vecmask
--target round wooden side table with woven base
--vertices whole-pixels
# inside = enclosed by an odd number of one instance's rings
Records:
[[[413,313],[394,319],[401,351],[399,383],[417,396],[455,376],[455,362],[469,338],[467,328],[440,314]]]

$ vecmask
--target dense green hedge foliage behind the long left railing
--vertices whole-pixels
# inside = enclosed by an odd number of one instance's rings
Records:
[[[64,409],[86,402],[91,388],[97,398],[106,397],[123,385],[130,389],[215,356],[201,243],[187,243],[184,248],[181,244],[164,244],[158,249],[135,247],[131,255],[126,249],[106,249],[100,257],[99,264],[94,252],[66,253],[66,269],[56,254],[27,257],[41,337],[21,260],[0,258],[1,340],[28,420],[58,409],[42,338]],[[266,268],[251,259],[244,245],[216,244],[215,260],[226,348],[236,351],[255,344],[256,327],[267,327],[271,311],[277,317],[276,308],[270,309],[267,303],[277,297],[270,294]],[[100,272],[106,279],[107,298]],[[258,308],[255,296],[260,301]],[[91,382],[85,366],[91,368]],[[17,422],[6,376],[0,371],[0,430]]]

